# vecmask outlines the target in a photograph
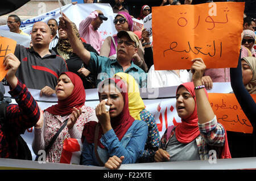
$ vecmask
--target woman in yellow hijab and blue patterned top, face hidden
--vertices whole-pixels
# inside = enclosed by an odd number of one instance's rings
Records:
[[[158,150],[160,135],[156,125],[155,117],[145,109],[144,102],[139,93],[138,83],[134,77],[123,72],[114,75],[115,78],[120,78],[127,83],[128,99],[129,99],[129,112],[134,119],[145,121],[148,125],[147,141],[144,151],[139,162],[154,162],[155,151]]]

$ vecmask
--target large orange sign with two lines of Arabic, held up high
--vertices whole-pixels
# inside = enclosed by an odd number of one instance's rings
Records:
[[[155,70],[190,69],[193,58],[207,68],[236,67],[244,2],[152,7]]]

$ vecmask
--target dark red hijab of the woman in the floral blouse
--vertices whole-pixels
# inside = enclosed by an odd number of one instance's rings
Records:
[[[71,71],[67,71],[61,74],[66,74],[71,79],[74,85],[72,94],[64,100],[58,100],[57,104],[48,107],[46,111],[52,113],[53,115],[70,115],[73,111],[73,107],[80,108],[84,106],[85,103],[85,90],[82,84],[81,78]]]

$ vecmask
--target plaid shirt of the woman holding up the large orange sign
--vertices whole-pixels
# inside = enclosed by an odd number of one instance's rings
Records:
[[[217,123],[217,118],[214,116],[212,120],[204,124],[198,124],[200,135],[196,138],[196,144],[199,150],[199,157],[201,160],[209,159],[209,151],[216,150],[217,158],[220,158],[221,150],[225,142],[225,129]],[[167,130],[164,132],[159,148],[166,150],[168,141],[174,136],[175,128],[170,133],[167,140]]]

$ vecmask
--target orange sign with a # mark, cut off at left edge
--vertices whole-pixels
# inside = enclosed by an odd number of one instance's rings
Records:
[[[6,54],[14,53],[16,41],[7,37],[0,37],[0,81],[5,77],[8,70],[5,70],[3,59]]]

